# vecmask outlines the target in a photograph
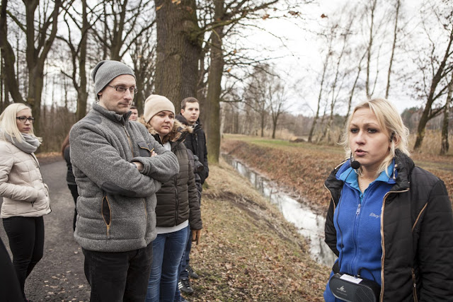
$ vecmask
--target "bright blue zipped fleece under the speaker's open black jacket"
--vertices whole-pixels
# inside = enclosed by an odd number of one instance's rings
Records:
[[[338,170],[336,178],[342,180],[344,185],[333,223],[337,230],[340,272],[360,275],[381,284],[382,200],[395,184],[393,173],[394,163],[391,163],[387,173],[383,171],[365,192],[361,192],[357,173],[350,168],[350,164],[347,163]],[[331,293],[328,284],[324,299],[339,301]]]

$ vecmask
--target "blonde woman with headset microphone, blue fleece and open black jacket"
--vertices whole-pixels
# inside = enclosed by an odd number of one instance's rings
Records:
[[[343,301],[337,277],[350,275],[377,284],[379,301],[453,301],[452,204],[444,182],[409,157],[396,108],[357,105],[343,145],[347,160],[325,183],[326,243],[338,256],[325,300]]]

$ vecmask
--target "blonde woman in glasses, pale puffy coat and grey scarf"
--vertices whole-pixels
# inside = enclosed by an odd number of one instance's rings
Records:
[[[41,141],[33,134],[34,121],[30,108],[19,103],[0,115],[0,216],[24,301],[25,279],[44,249],[42,216],[50,213],[49,192],[34,154]]]

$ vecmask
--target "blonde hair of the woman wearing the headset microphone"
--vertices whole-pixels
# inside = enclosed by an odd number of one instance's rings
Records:
[[[377,171],[377,174],[379,175],[379,173],[382,173],[382,171],[386,171],[387,168],[389,168],[391,161],[393,161],[395,157],[396,149],[399,149],[407,156],[411,155],[408,148],[409,129],[404,126],[401,115],[399,115],[395,106],[392,105],[389,100],[386,100],[384,98],[373,98],[371,100],[365,100],[359,105],[355,106],[354,110],[352,110],[351,114],[348,117],[348,120],[346,121],[343,139],[340,142],[340,144],[342,144],[345,149],[346,158],[350,158],[351,156],[349,136],[352,116],[357,110],[362,108],[369,108],[369,110],[371,110],[374,115],[376,115],[379,127],[385,129],[389,140],[391,139],[389,154],[384,158],[381,165],[379,165],[379,169]]]

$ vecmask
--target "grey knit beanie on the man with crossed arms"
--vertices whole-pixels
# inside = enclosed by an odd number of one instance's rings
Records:
[[[117,76],[121,76],[122,74],[130,74],[135,78],[134,71],[132,71],[129,66],[122,62],[105,60],[96,64],[93,72],[91,73],[96,94],[103,90],[103,88],[107,86],[107,84],[110,83],[113,79],[115,79]]]

